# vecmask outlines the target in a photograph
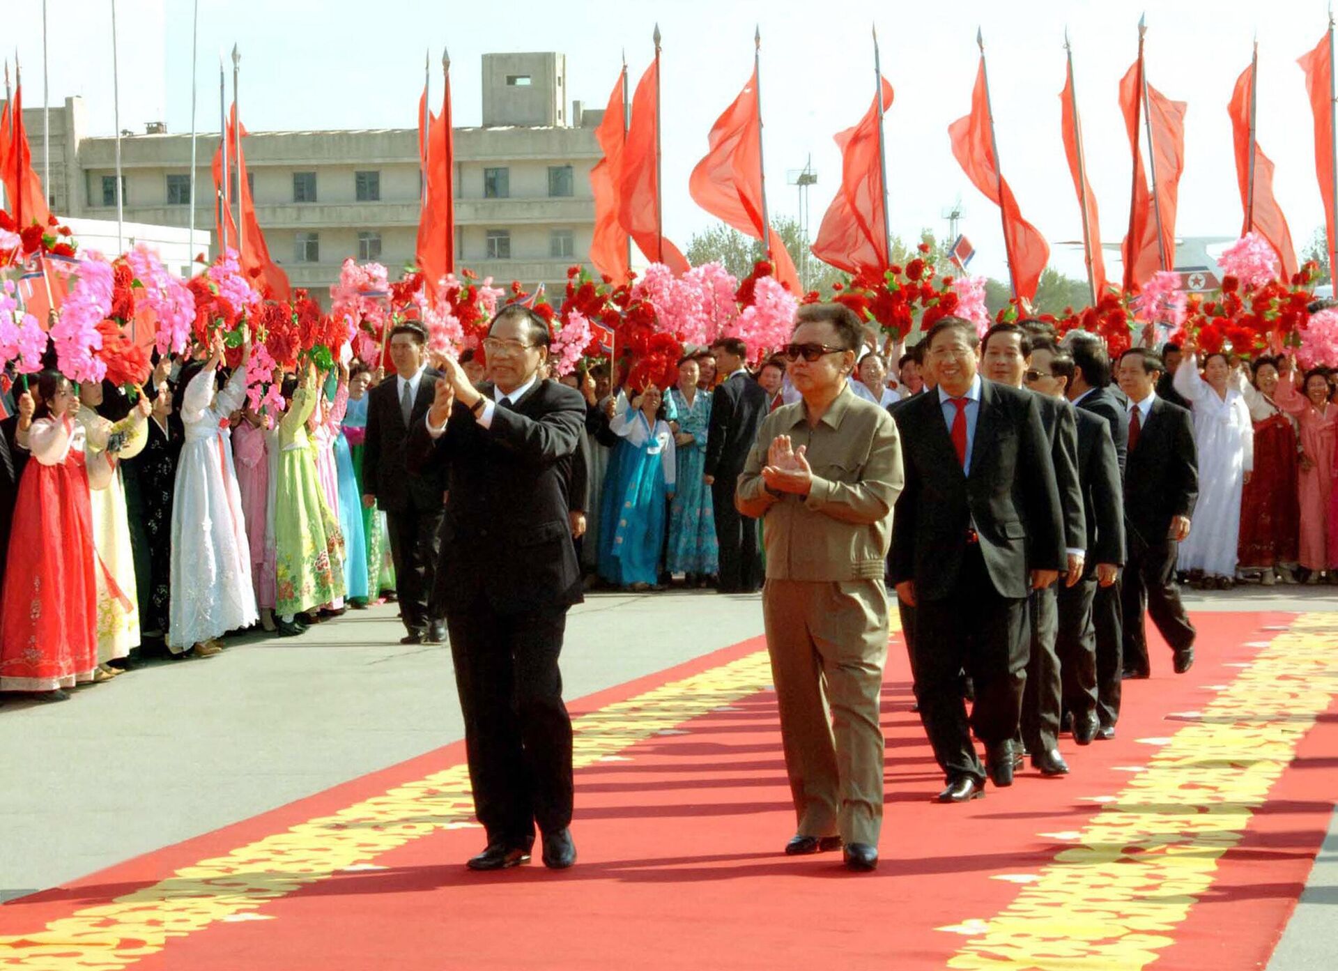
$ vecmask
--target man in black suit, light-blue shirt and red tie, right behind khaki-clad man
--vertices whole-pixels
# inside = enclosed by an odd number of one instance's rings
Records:
[[[971,729],[995,785],[1013,781],[1026,597],[1066,566],[1058,488],[1036,396],[977,373],[979,337],[959,317],[929,336],[938,389],[894,413],[906,486],[892,518],[892,580],[917,607],[915,698],[947,776],[939,801],[982,794]],[[962,669],[975,683],[970,722]]]

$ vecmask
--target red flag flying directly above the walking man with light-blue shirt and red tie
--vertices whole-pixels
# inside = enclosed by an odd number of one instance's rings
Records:
[[[994,139],[990,132],[990,111],[985,95],[985,58],[975,71],[975,88],[971,91],[971,114],[963,115],[947,126],[953,139],[953,155],[967,178],[981,193],[1004,211],[1004,245],[1013,270],[1017,296],[1025,300],[1036,298],[1036,288],[1041,282],[1041,272],[1050,258],[1050,247],[1036,226],[1022,218],[1017,199],[1008,181],[999,174],[994,158]]]

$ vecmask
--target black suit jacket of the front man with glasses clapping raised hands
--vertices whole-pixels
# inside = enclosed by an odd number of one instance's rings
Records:
[[[492,397],[492,385],[479,391]],[[459,401],[440,437],[425,417],[413,425],[409,469],[444,475],[450,490],[436,571],[447,613],[479,597],[499,614],[581,602],[567,487],[585,413],[581,392],[537,381],[514,405],[498,405],[488,428]]]

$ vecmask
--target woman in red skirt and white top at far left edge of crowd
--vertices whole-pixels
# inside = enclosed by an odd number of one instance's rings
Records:
[[[0,601],[0,691],[64,701],[98,667],[98,586],[88,490],[111,479],[106,453],[84,459],[70,381],[37,379],[43,404],[28,429]]]

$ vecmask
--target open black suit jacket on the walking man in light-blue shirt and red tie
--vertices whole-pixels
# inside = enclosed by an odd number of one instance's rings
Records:
[[[981,381],[970,476],[937,391],[906,401],[892,419],[906,472],[892,516],[894,583],[915,580],[918,599],[950,597],[971,528],[1002,597],[1026,597],[1028,568],[1064,570],[1060,494],[1036,395]]]

